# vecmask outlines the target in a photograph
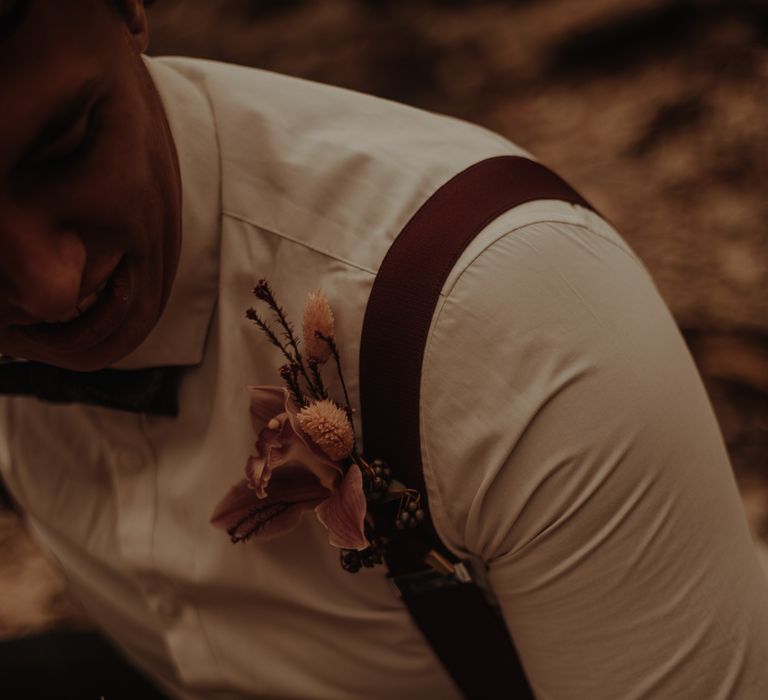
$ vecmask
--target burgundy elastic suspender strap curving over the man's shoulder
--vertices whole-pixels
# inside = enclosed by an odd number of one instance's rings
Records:
[[[591,208],[557,175],[527,158],[489,158],[453,177],[390,247],[363,321],[365,454],[369,461],[385,460],[394,478],[418,489],[427,516],[414,529],[380,526],[390,538],[385,560],[417,626],[472,700],[520,700],[533,694],[498,609],[432,526],[421,464],[421,367],[440,291],[462,251],[505,211],[541,199]]]

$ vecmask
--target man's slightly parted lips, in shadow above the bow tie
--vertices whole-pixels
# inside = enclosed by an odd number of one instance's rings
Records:
[[[134,291],[133,272],[122,258],[106,281],[81,299],[77,314],[59,321],[16,326],[16,331],[49,352],[84,352],[120,328],[130,311]]]

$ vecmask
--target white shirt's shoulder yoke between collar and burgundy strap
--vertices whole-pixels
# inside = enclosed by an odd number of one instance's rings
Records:
[[[154,62],[210,101],[225,216],[368,270],[456,173],[524,153],[479,126],[338,87],[210,61]]]

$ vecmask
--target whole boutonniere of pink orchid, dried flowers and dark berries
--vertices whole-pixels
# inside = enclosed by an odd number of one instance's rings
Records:
[[[421,496],[394,480],[380,460],[359,454],[344,374],[325,295],[314,292],[304,309],[303,352],[293,325],[266,280],[253,294],[272,318],[250,308],[246,316],[282,353],[282,386],[251,386],[250,417],[255,453],[245,475],[216,507],[211,522],[232,542],[268,539],[295,528],[313,511],[351,572],[383,561],[386,538],[376,532],[373,512],[384,509],[398,529],[424,519]],[[332,364],[343,399],[331,397],[323,370]]]

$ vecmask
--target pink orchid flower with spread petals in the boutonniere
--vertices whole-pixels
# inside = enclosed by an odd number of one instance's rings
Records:
[[[304,512],[314,510],[334,547],[365,549],[366,512],[363,479],[352,464],[346,471],[301,430],[298,407],[288,391],[274,386],[249,387],[256,455],[245,478],[232,486],[211,522],[234,542],[273,538],[295,528]]]

